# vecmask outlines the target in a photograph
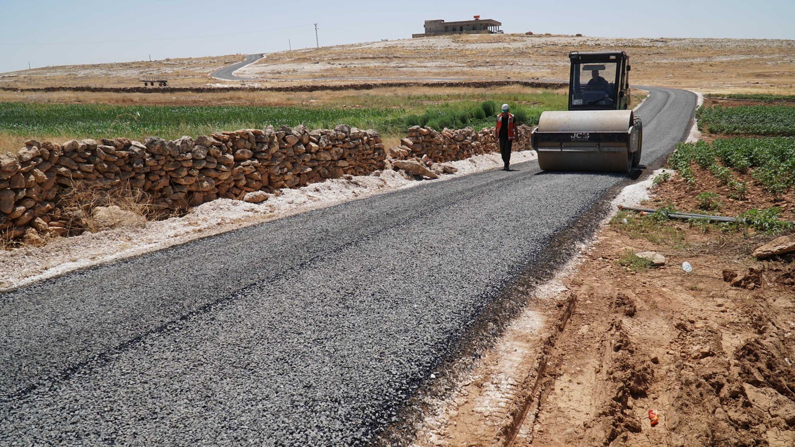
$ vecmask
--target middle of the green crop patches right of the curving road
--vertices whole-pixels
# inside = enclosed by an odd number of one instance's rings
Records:
[[[727,135],[795,136],[795,106],[699,107],[698,127]]]

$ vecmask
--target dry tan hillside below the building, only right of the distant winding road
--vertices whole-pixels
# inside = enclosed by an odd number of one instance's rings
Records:
[[[709,92],[795,89],[795,40],[472,34],[278,52],[238,75],[272,79],[568,79],[569,51],[630,54],[632,82]]]

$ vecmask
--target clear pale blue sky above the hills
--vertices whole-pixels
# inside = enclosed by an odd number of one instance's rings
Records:
[[[506,33],[795,39],[795,0],[330,2],[0,0],[0,72],[48,65],[274,52],[411,37],[431,19]]]

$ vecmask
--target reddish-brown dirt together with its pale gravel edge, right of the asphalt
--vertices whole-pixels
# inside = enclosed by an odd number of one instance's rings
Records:
[[[647,205],[685,209],[663,185]],[[750,256],[771,238],[614,219],[529,295],[415,444],[795,445],[795,266]],[[624,265],[643,251],[665,265]]]

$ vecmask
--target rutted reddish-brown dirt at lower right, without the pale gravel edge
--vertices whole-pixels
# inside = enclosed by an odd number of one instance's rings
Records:
[[[793,445],[795,266],[750,258],[770,237],[684,223],[644,236],[624,226],[605,229],[568,280],[576,311],[556,345],[537,419],[518,439]],[[627,250],[656,250],[666,264],[631,272],[619,264]],[[684,261],[692,273],[682,271]],[[656,426],[650,409],[660,414]]]

